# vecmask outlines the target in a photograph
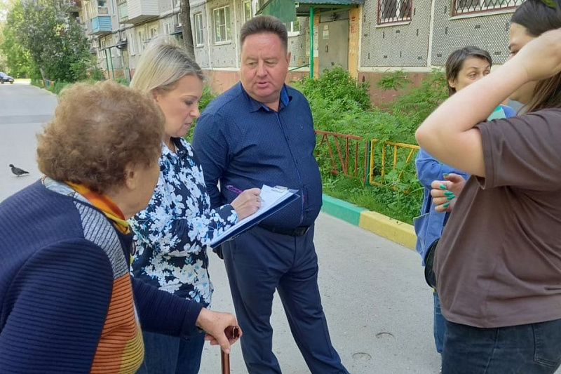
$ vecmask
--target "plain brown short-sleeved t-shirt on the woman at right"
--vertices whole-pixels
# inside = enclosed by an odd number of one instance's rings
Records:
[[[492,328],[561,319],[561,109],[480,123],[471,177],[436,249],[448,321]]]

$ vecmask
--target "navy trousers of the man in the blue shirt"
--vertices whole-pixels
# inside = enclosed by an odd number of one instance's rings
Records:
[[[313,227],[289,236],[255,227],[223,244],[241,348],[250,374],[280,374],[269,323],[278,290],[290,330],[312,374],[348,374],[331,345],[318,289]]]

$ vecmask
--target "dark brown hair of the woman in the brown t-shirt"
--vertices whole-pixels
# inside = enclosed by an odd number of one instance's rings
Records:
[[[531,36],[540,36],[546,31],[561,27],[561,0],[551,0],[555,8],[541,0],[526,0],[514,12],[511,23],[525,27]],[[536,84],[534,95],[525,103],[526,112],[561,107],[561,73]]]

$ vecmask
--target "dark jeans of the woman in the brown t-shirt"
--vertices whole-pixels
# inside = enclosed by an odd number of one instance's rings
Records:
[[[501,328],[446,321],[443,374],[553,374],[561,363],[561,319]]]

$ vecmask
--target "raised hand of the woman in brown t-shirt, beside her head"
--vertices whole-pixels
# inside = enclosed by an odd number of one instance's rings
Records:
[[[529,41],[511,59],[511,68],[520,67],[528,81],[541,81],[561,72],[561,29],[544,32]]]

